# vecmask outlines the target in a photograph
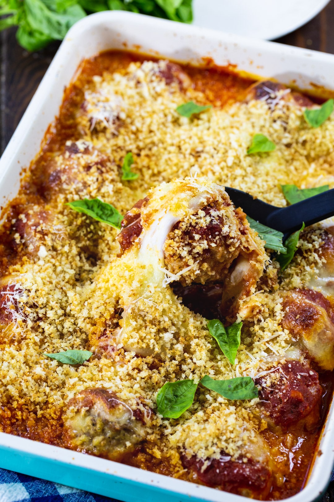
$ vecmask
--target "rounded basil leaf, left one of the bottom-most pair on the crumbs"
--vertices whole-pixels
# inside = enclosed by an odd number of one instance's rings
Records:
[[[179,418],[192,405],[196,389],[193,380],[167,382],[158,391],[158,412],[164,418]]]

